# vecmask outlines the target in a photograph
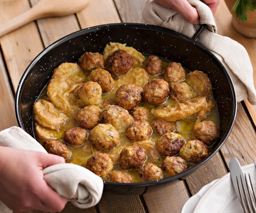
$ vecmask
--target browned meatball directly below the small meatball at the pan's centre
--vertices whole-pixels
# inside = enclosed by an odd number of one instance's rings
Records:
[[[126,129],[126,137],[133,142],[149,140],[151,134],[151,126],[145,120],[134,121]]]

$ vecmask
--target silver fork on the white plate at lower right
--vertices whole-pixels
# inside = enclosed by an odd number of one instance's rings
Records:
[[[241,175],[240,175],[240,181],[238,180],[239,177],[236,176],[237,186],[238,186],[238,190],[239,190],[239,194],[240,194],[240,198],[241,198],[241,203],[242,203],[242,207],[244,209],[244,212],[245,213],[256,213],[256,207],[255,207],[256,194],[255,194],[255,190],[254,190],[254,188],[252,186],[252,181],[251,181],[250,174],[248,174],[248,175],[249,175],[249,180],[250,180],[251,188],[250,188],[249,183],[247,181],[246,174],[244,174],[245,182],[246,182],[246,188],[245,188],[245,186],[243,184],[242,176]],[[241,190],[241,188],[242,188],[242,190]],[[251,193],[251,189],[252,189],[252,192],[253,192],[253,196],[252,196],[252,193]],[[245,203],[243,197],[245,198],[246,203]]]

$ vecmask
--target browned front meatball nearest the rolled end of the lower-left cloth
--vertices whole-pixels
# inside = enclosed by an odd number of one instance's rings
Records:
[[[113,162],[107,154],[97,153],[87,160],[86,169],[104,179],[113,170]]]

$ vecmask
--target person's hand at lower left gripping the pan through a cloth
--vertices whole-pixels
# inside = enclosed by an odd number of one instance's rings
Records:
[[[42,152],[0,147],[0,200],[11,210],[59,212],[67,199],[43,179],[45,167],[65,163],[64,158]]]

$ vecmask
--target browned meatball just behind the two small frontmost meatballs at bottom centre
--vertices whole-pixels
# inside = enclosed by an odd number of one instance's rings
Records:
[[[139,146],[126,146],[120,153],[120,166],[123,169],[141,169],[147,159],[146,151]]]

